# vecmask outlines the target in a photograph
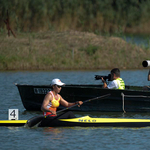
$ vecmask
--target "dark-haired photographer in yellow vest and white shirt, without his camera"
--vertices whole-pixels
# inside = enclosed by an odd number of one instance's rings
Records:
[[[118,68],[114,68],[111,70],[111,82],[107,85],[106,81],[102,77],[103,88],[108,89],[125,89],[125,83],[120,78],[120,70]]]

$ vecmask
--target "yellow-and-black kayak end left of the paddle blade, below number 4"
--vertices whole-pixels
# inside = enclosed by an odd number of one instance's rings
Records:
[[[27,120],[0,120],[0,126],[24,126]]]

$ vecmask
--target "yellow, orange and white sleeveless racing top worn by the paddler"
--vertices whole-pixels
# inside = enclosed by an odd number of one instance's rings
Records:
[[[49,102],[49,104],[47,105],[47,108],[52,110],[52,111],[57,111],[57,107],[59,107],[59,105],[60,105],[60,96],[58,99],[55,99],[53,92],[50,91],[49,93],[52,95],[52,101]],[[51,112],[44,112],[43,113],[44,116],[47,116],[50,114],[52,114],[52,113]],[[56,116],[56,115],[50,115],[50,117],[53,117],[53,116]]]

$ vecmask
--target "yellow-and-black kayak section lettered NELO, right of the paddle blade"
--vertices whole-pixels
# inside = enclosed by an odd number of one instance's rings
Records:
[[[89,116],[59,119],[59,122],[49,123],[49,127],[147,127],[150,119],[126,119],[126,118],[91,118]]]

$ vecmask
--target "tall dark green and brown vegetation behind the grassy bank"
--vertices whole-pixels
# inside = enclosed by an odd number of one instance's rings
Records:
[[[20,32],[123,32],[150,23],[149,0],[0,0],[0,29],[9,12],[10,25]]]

